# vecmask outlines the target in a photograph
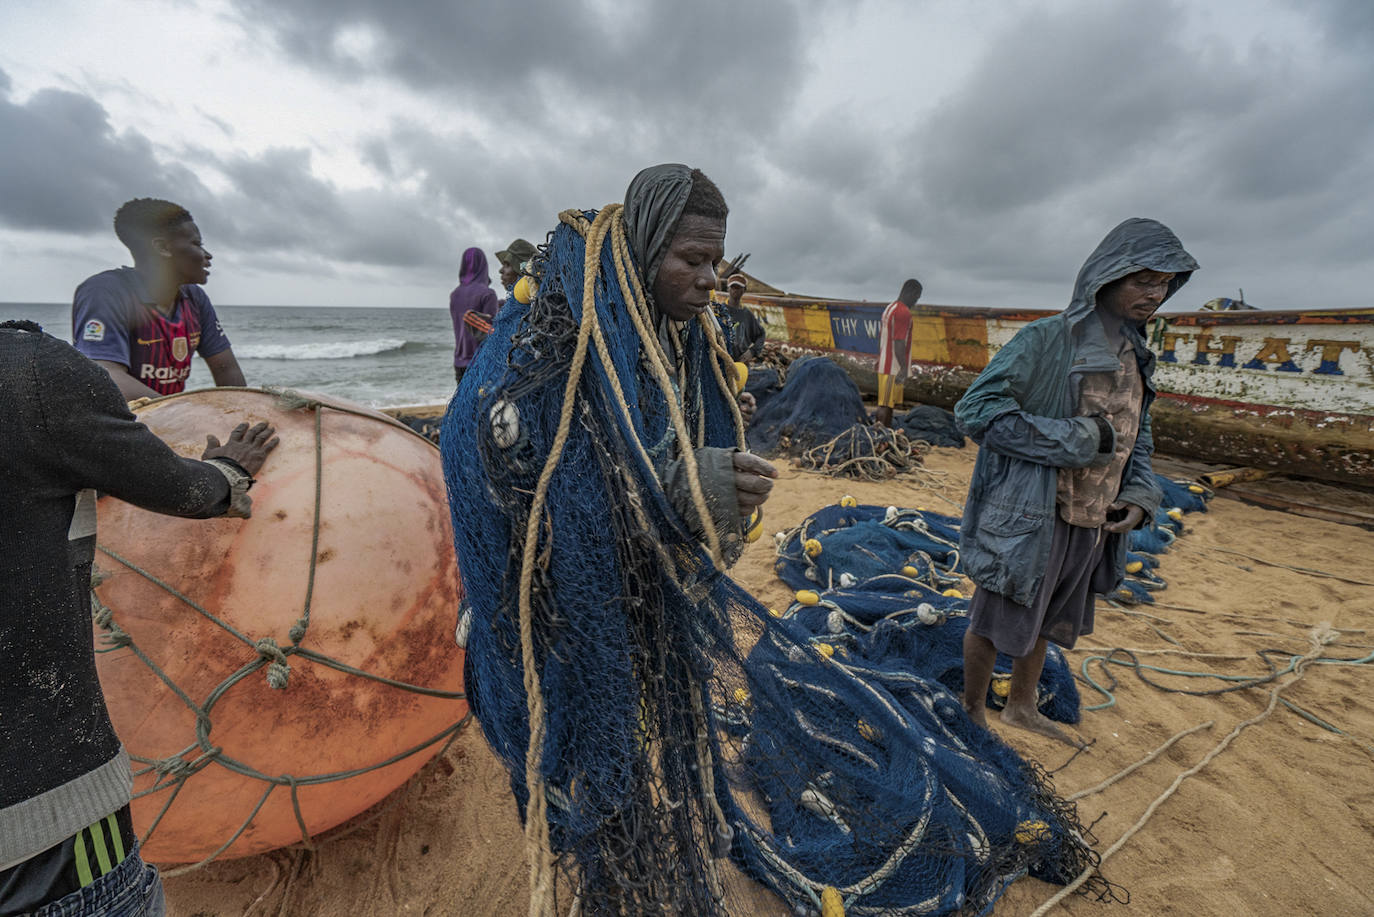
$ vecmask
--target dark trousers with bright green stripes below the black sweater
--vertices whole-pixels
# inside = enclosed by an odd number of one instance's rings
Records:
[[[0,917],[161,917],[162,880],[143,862],[129,808],[0,872]]]

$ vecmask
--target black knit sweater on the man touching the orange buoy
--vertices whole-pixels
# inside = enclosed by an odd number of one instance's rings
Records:
[[[224,474],[172,452],[104,370],[54,337],[0,327],[0,828],[18,803],[120,753],[91,637],[89,488],[198,518],[229,500]]]

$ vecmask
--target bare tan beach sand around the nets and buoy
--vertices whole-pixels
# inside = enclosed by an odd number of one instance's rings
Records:
[[[767,531],[790,528],[844,494],[955,513],[973,458],[971,447],[936,450],[919,478],[878,484],[785,469]],[[1374,665],[1320,661],[1374,650],[1374,533],[1228,499],[1187,524],[1162,555],[1169,588],[1157,594],[1160,604],[1127,612],[1099,604],[1096,632],[1069,653],[1074,671],[1112,649],[1161,668],[1237,676],[1268,674],[1257,654],[1264,649],[1278,650],[1270,659],[1279,667],[1304,654],[1312,661],[1267,685],[1209,696],[1178,690],[1230,682],[1147,672],[1164,690],[1113,665],[1114,703],[1084,712],[1077,733],[1091,747],[1077,755],[999,727],[1054,774],[1062,795],[1087,792],[1079,811],[1099,852],[1131,833],[1102,866],[1129,903],[1072,895],[1050,913],[1374,914]],[[763,539],[735,577],[780,608],[790,591],[772,560],[771,539]],[[1336,628],[1334,642],[1314,643],[1322,624]],[[1090,672],[1110,683],[1101,665]],[[1084,707],[1106,700],[1085,685],[1080,690]],[[1275,690],[1341,734],[1274,701]],[[996,913],[1030,914],[1057,891],[1021,880]],[[216,862],[169,879],[166,896],[174,917],[522,914],[523,837],[506,773],[473,723],[411,784],[315,851]],[[786,913],[767,892],[753,899],[757,913]]]

